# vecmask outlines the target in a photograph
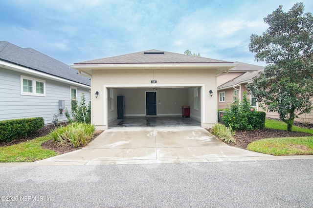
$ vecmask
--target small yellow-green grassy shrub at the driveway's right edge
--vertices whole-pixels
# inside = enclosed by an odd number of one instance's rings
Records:
[[[236,143],[236,139],[234,138],[236,132],[233,132],[231,126],[226,127],[225,125],[218,123],[212,126],[210,132],[226,143]]]

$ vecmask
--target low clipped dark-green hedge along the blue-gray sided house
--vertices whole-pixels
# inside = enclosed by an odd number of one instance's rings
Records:
[[[20,118],[0,121],[0,140],[12,141],[40,130],[45,126],[44,118]]]

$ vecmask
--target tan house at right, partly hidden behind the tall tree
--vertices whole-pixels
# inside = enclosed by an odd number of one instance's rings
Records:
[[[238,64],[237,68],[240,67]],[[246,72],[241,76],[237,76],[234,79],[229,80],[228,82],[218,86],[218,109],[225,109],[227,105],[231,104],[234,101],[234,96],[236,96],[240,101],[242,101],[242,96],[244,92],[247,93],[247,98],[251,101],[251,106],[254,107],[257,111],[264,111],[259,107],[256,97],[254,97],[253,92],[249,92],[246,88],[246,84],[252,82],[254,76],[263,71],[265,67],[259,68],[255,72]],[[230,73],[229,73],[230,74]],[[313,101],[313,98],[312,98]],[[275,112],[265,111],[267,117],[270,118],[279,118],[279,114]],[[295,121],[300,121],[302,123],[313,123],[313,113],[311,114],[302,114],[299,118],[296,118]]]

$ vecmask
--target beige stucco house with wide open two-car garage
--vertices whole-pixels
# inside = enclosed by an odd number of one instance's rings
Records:
[[[217,122],[217,77],[235,66],[223,60],[148,50],[71,67],[91,77],[91,119],[96,129],[103,130],[118,118],[118,96],[124,96],[126,117],[181,115],[181,106],[190,106],[190,118],[211,127]]]

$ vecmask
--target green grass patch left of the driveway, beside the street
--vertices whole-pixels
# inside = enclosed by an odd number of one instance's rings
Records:
[[[34,162],[57,155],[55,151],[41,147],[48,140],[47,136],[42,136],[20,144],[0,147],[0,162]]]

